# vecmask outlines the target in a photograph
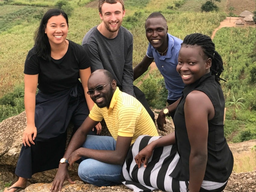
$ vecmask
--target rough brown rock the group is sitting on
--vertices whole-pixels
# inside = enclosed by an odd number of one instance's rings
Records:
[[[157,114],[155,113],[155,118]],[[20,113],[17,116],[5,119],[0,123],[0,191],[4,188],[5,182],[17,181],[15,175],[15,167],[20,153],[22,144],[22,134],[26,127],[26,113]],[[166,132],[159,132],[159,135],[167,135],[174,131],[172,122],[167,120]],[[72,125],[68,129],[68,135],[72,130]],[[102,129],[102,135],[110,135],[105,126]],[[255,140],[249,142],[243,142],[240,144],[242,150],[239,150],[238,144],[230,146],[231,150],[236,152],[242,152],[243,150],[251,150],[251,147],[255,145]],[[84,184],[77,175],[77,165],[74,170],[69,170],[70,177],[75,184],[69,184],[68,181],[64,182],[62,192],[99,192],[99,191],[132,191],[126,188],[124,185],[117,185],[111,187],[95,187],[90,184]],[[28,187],[20,192],[49,192],[57,169],[48,170],[45,172],[36,173],[31,179],[28,180]],[[256,172],[235,173],[233,172],[229,178],[227,187],[223,192],[255,192],[256,191]],[[161,192],[161,190],[155,190],[155,192]]]

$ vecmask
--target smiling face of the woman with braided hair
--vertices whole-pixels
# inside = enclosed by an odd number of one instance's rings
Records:
[[[177,72],[183,82],[189,85],[210,72],[211,58],[198,45],[182,45],[178,57]]]

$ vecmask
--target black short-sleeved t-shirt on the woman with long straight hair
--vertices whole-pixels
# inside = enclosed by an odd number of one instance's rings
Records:
[[[77,84],[79,70],[90,67],[88,54],[81,45],[70,40],[67,53],[58,60],[44,60],[33,47],[27,54],[24,73],[38,76],[38,88],[43,93],[55,93]]]

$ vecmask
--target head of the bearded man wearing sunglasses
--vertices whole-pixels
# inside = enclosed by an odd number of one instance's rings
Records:
[[[91,74],[88,79],[88,89],[94,90],[98,86],[108,84],[109,79],[106,78],[103,72],[95,71]],[[116,88],[116,81],[113,80],[111,83],[106,85],[101,91],[94,91],[93,94],[90,94],[92,101],[100,108],[108,107],[110,105],[111,99],[113,97],[114,91]]]

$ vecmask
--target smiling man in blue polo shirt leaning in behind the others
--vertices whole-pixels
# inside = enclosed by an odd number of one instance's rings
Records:
[[[137,79],[149,65],[155,60],[158,70],[164,77],[165,87],[168,90],[167,102],[173,104],[177,101],[184,88],[184,83],[176,71],[180,44],[183,42],[177,37],[171,36],[168,32],[166,19],[161,13],[150,14],[145,22],[146,37],[149,41],[148,50],[142,61],[133,68],[133,79]],[[175,111],[161,110],[160,114],[173,118]],[[160,128],[163,130],[163,128]]]

